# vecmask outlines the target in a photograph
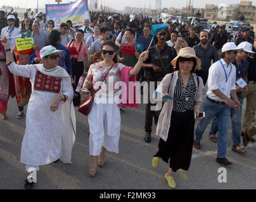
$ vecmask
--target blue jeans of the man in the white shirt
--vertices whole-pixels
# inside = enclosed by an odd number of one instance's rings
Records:
[[[203,132],[207,128],[209,122],[214,118],[218,118],[219,136],[218,136],[218,153],[217,158],[226,158],[227,133],[229,128],[230,108],[228,105],[219,105],[205,99],[203,102],[203,111],[205,117],[199,122],[195,131],[195,141],[200,142]]]

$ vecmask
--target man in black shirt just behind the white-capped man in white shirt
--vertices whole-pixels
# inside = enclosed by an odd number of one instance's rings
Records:
[[[219,32],[215,33],[210,40],[210,44],[214,45],[215,49],[217,49],[219,56],[221,56],[222,46],[227,43],[227,35],[224,33],[224,26],[219,27]]]

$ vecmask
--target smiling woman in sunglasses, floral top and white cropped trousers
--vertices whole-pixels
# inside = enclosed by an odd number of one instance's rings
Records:
[[[88,91],[92,86],[97,90],[98,84],[101,85],[101,90],[96,93],[93,106],[88,115],[90,129],[89,153],[92,157],[92,164],[89,170],[91,177],[96,174],[98,156],[98,165],[103,167],[106,150],[118,153],[120,138],[120,110],[113,97],[118,90],[114,90],[113,86],[117,81],[121,80],[124,65],[117,63],[117,47],[112,40],[107,40],[101,44],[101,54],[103,61],[91,65],[81,89],[81,93],[84,94],[84,90]],[[129,76],[139,73],[143,61],[147,57],[148,51],[139,56],[138,63],[129,71]],[[106,80],[102,82],[105,76]],[[108,90],[113,91],[109,92]]]

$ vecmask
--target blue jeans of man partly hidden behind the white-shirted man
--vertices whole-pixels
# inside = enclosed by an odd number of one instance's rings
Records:
[[[240,93],[238,95],[238,101],[241,104],[240,110],[235,110],[234,108],[230,109],[230,116],[232,122],[232,141],[233,146],[238,146],[241,143],[240,134],[241,134],[241,116],[242,116],[242,105],[243,105],[243,95]],[[214,117],[212,120],[212,127],[210,128],[210,134],[218,133],[218,119]]]

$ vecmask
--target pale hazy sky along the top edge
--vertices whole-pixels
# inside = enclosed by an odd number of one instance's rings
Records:
[[[45,4],[53,4],[55,3],[54,0],[38,0],[39,1],[39,8],[44,8]],[[104,1],[107,0],[102,0]],[[148,8],[151,4],[151,8],[153,6],[153,0],[108,0],[110,3],[110,6],[112,8],[122,10],[124,9],[124,6],[132,6],[136,5],[137,8],[144,7],[144,4],[146,5],[146,8]],[[186,6],[186,2],[188,0],[162,0],[162,8],[182,8]],[[240,0],[191,0],[193,1],[194,8],[205,8],[205,4],[236,4],[240,3]],[[8,1],[7,1],[8,2]],[[4,0],[0,0],[0,6],[6,5],[6,6],[20,6],[20,8],[36,8],[37,1],[36,0],[11,0],[7,3]],[[11,2],[11,3],[10,3]],[[69,0],[70,2],[70,0]],[[151,3],[150,3],[151,2]],[[62,0],[62,3],[68,3],[68,0]],[[101,0],[98,0],[98,3],[101,4]],[[175,4],[174,4],[175,3]],[[253,6],[256,6],[256,0],[252,0]]]

